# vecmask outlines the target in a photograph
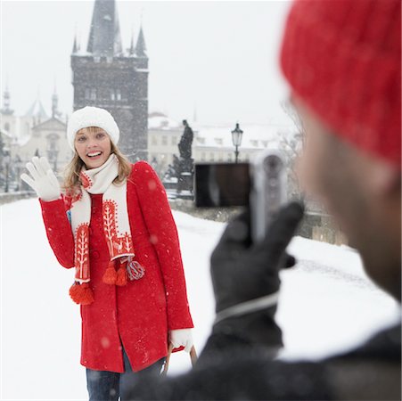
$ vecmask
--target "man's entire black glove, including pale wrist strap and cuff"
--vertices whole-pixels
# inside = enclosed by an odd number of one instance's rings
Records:
[[[282,331],[276,325],[279,270],[295,260],[285,250],[301,218],[303,206],[292,202],[279,211],[263,241],[250,241],[250,214],[227,227],[211,256],[217,319],[207,349],[240,343],[277,349]]]

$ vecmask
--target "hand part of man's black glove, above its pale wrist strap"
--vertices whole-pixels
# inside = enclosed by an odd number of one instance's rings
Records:
[[[279,290],[279,270],[294,264],[286,247],[303,217],[303,208],[292,202],[279,211],[263,241],[250,241],[249,214],[232,221],[211,256],[211,276],[217,313],[250,299]]]

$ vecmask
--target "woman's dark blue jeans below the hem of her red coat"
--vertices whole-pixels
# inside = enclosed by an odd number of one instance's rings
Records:
[[[124,373],[86,369],[86,388],[89,401],[117,401],[119,399],[124,401],[126,399],[124,392],[128,384],[132,385],[133,382],[141,380],[141,377],[145,375],[158,376],[165,362],[165,358],[161,358],[146,369],[133,372],[124,349],[123,358]]]

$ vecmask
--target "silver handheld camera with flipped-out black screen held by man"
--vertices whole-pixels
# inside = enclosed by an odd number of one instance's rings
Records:
[[[261,151],[250,163],[196,163],[195,206],[250,206],[252,241],[260,241],[286,202],[286,177],[283,154],[275,150]]]

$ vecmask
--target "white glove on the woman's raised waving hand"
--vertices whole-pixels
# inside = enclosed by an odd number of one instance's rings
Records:
[[[49,162],[45,157],[32,158],[32,163],[27,163],[28,174],[21,174],[21,180],[25,181],[29,186],[37,192],[37,196],[45,202],[55,201],[60,198],[61,190],[59,181]]]

